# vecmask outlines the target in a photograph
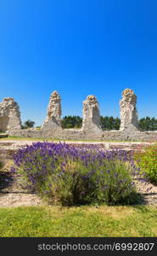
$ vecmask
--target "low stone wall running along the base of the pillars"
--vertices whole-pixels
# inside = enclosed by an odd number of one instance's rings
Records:
[[[157,131],[102,131],[101,133],[89,133],[76,129],[56,130],[14,130],[8,132],[15,137],[52,137],[59,140],[93,140],[93,141],[154,141],[157,140]]]

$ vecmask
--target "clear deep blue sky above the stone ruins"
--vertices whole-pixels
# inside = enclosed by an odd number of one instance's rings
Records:
[[[131,88],[138,116],[157,118],[156,10],[156,0],[0,1],[0,101],[13,96],[22,120],[41,125],[53,90],[63,116],[93,94],[116,117]]]

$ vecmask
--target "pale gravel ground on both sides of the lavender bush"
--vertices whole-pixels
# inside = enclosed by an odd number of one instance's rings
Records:
[[[6,172],[7,173],[7,172]],[[20,207],[20,206],[42,206],[43,201],[30,191],[20,187],[17,177],[10,177],[4,174],[3,186],[0,187],[0,207]],[[157,205],[157,186],[152,183],[142,182],[134,178],[137,191],[143,196],[142,204]]]

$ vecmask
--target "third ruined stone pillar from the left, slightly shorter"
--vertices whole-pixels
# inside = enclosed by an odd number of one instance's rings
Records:
[[[88,133],[100,133],[100,114],[98,101],[95,96],[87,96],[86,101],[83,102],[83,121],[82,131]]]

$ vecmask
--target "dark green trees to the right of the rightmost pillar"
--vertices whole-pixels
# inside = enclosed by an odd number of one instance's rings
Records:
[[[149,116],[139,119],[139,127],[142,131],[157,131],[157,119]]]

